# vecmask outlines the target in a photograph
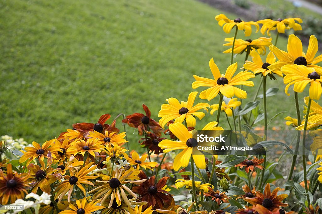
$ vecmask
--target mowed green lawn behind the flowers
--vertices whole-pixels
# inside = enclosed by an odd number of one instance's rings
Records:
[[[212,57],[222,73],[230,64],[222,45],[233,33],[215,21],[220,13],[194,0],[1,1],[0,134],[42,143],[106,113],[143,113],[142,103],[158,120],[166,98],[187,99],[193,74],[212,76]],[[244,38],[241,31],[238,37]],[[286,50],[286,44],[280,37],[279,47]],[[239,68],[243,59],[235,59]],[[244,87],[244,104],[256,93],[259,76],[253,80],[255,87]],[[268,81],[268,88],[274,86],[280,90],[268,98],[269,119],[289,112],[271,127],[288,129],[283,118],[295,117],[293,97],[285,95],[281,79]],[[210,102],[215,103],[218,98]],[[207,114],[197,128],[213,120]],[[117,126],[123,129],[120,119]],[[128,128],[130,140],[137,141],[133,132]]]

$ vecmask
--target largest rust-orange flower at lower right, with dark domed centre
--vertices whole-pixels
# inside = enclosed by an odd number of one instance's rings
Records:
[[[287,194],[277,195],[279,187],[275,188],[273,192],[270,192],[270,184],[268,183],[265,187],[264,194],[256,191],[256,197],[248,198],[246,197],[244,200],[252,205],[260,204],[266,209],[273,211],[275,209],[279,209],[279,207],[289,206],[288,204],[282,203],[285,198],[288,197]]]

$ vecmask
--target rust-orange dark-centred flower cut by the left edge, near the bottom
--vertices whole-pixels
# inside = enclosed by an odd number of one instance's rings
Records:
[[[7,175],[0,170],[0,198],[1,204],[7,204],[9,199],[13,203],[16,199],[23,199],[28,194],[26,188],[29,187],[27,179],[30,175],[22,176],[12,171],[12,165],[8,164]]]

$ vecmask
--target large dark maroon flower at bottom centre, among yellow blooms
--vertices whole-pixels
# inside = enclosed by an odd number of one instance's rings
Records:
[[[141,179],[147,179],[147,175],[143,171],[140,171],[139,177]],[[155,184],[155,176],[152,176],[139,186],[132,188],[133,192],[141,196],[140,201],[147,201],[143,210],[147,209],[151,205],[154,210],[164,209],[165,205],[171,204],[171,194],[163,189],[169,178],[170,177],[163,177]]]

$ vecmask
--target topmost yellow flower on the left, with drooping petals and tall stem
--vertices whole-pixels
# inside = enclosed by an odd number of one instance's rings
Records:
[[[256,27],[256,32],[260,29],[260,26],[255,21],[242,21],[240,18],[237,18],[235,20],[228,19],[226,15],[220,14],[217,15],[216,21],[218,21],[218,24],[220,26],[223,26],[223,31],[225,33],[230,33],[232,28],[236,25],[238,30],[244,30],[245,36],[251,35],[251,25],[254,25]]]

